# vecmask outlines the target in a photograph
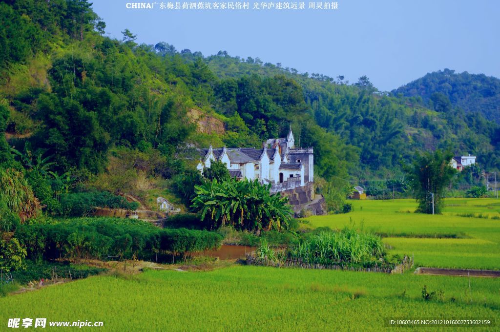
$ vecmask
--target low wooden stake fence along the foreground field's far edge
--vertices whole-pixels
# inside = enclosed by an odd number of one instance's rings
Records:
[[[309,268],[309,269],[334,269],[334,270],[345,270],[345,271],[362,271],[362,272],[382,272],[382,273],[403,273],[405,270],[413,266],[413,257],[404,256],[401,264],[395,266],[393,269],[381,268],[378,266],[374,267],[353,267],[342,264],[316,264],[304,262],[300,259],[289,259],[286,258],[283,261],[274,261],[267,258],[258,257],[255,251],[247,252],[245,254],[247,265],[263,265],[263,266],[273,266],[273,267],[299,267],[299,268]]]

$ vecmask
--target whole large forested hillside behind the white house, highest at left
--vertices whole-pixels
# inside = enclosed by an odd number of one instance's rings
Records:
[[[396,176],[415,151],[434,148],[477,154],[488,170],[500,161],[494,122],[446,100],[429,109],[386,95],[365,76],[348,85],[224,51],[137,44],[127,29],[111,39],[86,0],[3,1],[0,22],[0,130],[24,158],[14,160],[2,135],[3,165],[50,157],[54,170],[91,179],[111,171],[119,147],[163,160],[130,167],[168,178],[185,167],[181,148],[260,146],[290,123],[327,181]],[[222,130],[186,120],[193,109]]]

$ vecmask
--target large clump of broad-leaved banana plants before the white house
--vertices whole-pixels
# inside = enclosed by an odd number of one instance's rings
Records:
[[[201,213],[201,220],[211,228],[232,225],[253,232],[287,229],[293,214],[287,198],[269,193],[270,184],[258,180],[237,181],[233,178],[219,183],[216,179],[196,185],[192,207]]]

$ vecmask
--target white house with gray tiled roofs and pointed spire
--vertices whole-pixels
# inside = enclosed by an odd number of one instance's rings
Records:
[[[262,148],[221,147],[199,149],[197,169],[203,172],[212,160],[227,165],[229,174],[236,178],[258,179],[272,183],[271,191],[283,191],[310,184],[314,180],[313,149],[295,148],[290,130],[284,138],[267,139]]]

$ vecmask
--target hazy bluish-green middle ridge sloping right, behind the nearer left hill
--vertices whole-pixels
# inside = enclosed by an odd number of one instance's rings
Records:
[[[360,165],[350,172],[357,178],[392,176],[415,150],[435,148],[474,153],[486,170],[498,167],[498,125],[478,111],[442,106],[442,99],[429,106],[418,97],[381,92],[366,76],[349,85],[342,75],[298,73],[280,63],[233,57],[225,51],[205,62],[226,80],[282,74],[297,82],[316,123],[359,149]]]

